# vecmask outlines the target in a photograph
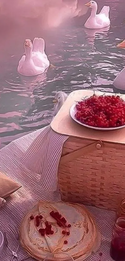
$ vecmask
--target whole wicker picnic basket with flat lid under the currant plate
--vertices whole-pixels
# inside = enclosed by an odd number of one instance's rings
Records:
[[[68,98],[70,107],[75,98]],[[74,123],[63,110],[51,125],[56,132],[69,136],[58,169],[62,200],[116,210],[125,197],[125,128],[89,130]]]

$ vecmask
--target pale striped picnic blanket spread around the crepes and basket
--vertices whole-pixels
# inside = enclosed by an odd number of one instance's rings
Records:
[[[47,126],[34,131],[0,150],[0,170],[22,184],[22,188],[7,198],[5,206],[0,208],[0,230],[6,231],[10,247],[16,251],[20,222],[26,212],[38,200],[59,201],[60,190],[57,186],[57,168],[62,146],[68,137],[58,135]],[[88,261],[111,261],[109,255],[110,238],[114,212],[89,206],[102,233],[102,245]],[[20,261],[33,261],[20,246]],[[4,245],[0,261],[10,261],[11,252]]]

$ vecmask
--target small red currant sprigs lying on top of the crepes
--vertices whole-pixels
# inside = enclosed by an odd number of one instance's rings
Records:
[[[71,227],[71,224],[67,224],[65,217],[63,217],[59,212],[56,212],[56,211],[54,212],[53,210],[50,212],[50,216],[56,220],[56,224],[59,227],[63,228],[63,230],[62,230],[63,236],[69,236],[70,235],[69,228]],[[31,215],[30,220],[33,220],[33,219],[35,220],[35,225],[37,228],[39,227],[40,222],[44,223],[45,228],[40,227],[38,229],[39,233],[42,236],[45,236],[45,234],[46,235],[54,234],[54,231],[52,230],[52,225],[47,220],[45,220],[45,218],[42,215],[37,215],[35,217],[33,215]],[[67,244],[67,243],[68,243],[68,241],[64,240],[64,244]]]

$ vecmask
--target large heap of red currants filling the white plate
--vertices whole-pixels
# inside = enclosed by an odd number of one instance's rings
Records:
[[[93,95],[76,105],[75,118],[98,128],[113,128],[125,125],[125,102],[118,95]]]

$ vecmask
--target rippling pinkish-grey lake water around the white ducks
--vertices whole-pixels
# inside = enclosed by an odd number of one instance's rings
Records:
[[[87,1],[84,1],[87,2]],[[99,10],[110,6],[110,29],[87,30],[88,12],[58,28],[42,30],[38,21],[0,25],[0,148],[12,140],[50,123],[57,91],[77,89],[119,92],[112,81],[125,66],[125,50],[116,45],[125,39],[125,1],[98,1]],[[44,37],[46,53],[55,67],[38,77],[20,77],[17,64],[25,38]]]

